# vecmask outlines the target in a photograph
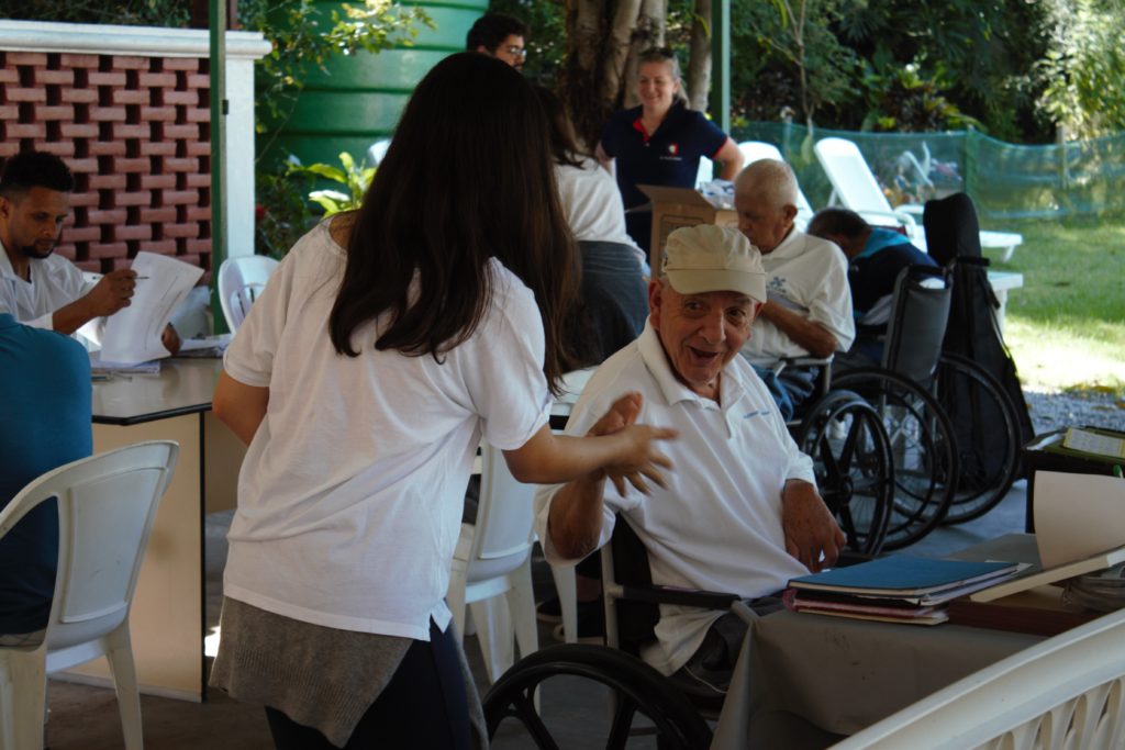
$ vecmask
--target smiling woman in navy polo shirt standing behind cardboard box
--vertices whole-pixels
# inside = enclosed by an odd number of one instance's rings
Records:
[[[616,160],[626,228],[648,254],[652,214],[629,211],[648,202],[637,186],[694,188],[701,156],[721,162],[718,177],[734,180],[742,166],[742,154],[702,112],[687,109],[675,53],[649,49],[641,53],[638,63],[637,94],[641,103],[610,118],[597,144],[597,159],[606,168]]]

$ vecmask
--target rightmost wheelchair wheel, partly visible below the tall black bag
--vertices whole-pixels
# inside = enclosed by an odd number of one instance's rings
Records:
[[[953,422],[961,468],[944,523],[963,523],[991,510],[1016,481],[1016,409],[991,373],[958,354],[942,356],[937,398]]]

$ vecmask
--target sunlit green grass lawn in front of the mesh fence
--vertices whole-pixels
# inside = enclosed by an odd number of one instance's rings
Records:
[[[1125,217],[1016,223],[1005,340],[1025,385],[1125,392]]]

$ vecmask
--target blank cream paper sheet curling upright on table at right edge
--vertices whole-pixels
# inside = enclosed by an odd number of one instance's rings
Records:
[[[1044,568],[1125,545],[1125,479],[1036,471],[1035,541]]]

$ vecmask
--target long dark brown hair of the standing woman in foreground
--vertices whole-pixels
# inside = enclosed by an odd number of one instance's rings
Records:
[[[534,292],[543,372],[556,390],[569,363],[560,329],[579,271],[548,142],[542,108],[515,70],[478,53],[435,65],[356,215],[328,318],[336,351],[358,356],[356,328],[389,313],[377,350],[440,360],[480,323],[496,257]]]

